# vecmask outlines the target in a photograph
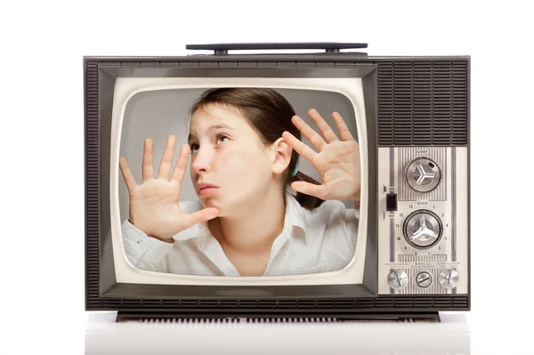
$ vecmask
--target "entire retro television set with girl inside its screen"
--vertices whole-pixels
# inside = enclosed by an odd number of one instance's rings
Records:
[[[84,57],[85,310],[469,311],[470,57],[362,48]]]

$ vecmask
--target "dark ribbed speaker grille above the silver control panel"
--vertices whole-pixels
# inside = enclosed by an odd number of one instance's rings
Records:
[[[378,65],[378,145],[469,144],[468,62]]]

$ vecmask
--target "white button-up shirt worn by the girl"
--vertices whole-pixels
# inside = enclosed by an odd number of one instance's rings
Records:
[[[200,201],[180,202],[190,214],[204,206]],[[328,200],[308,210],[286,190],[284,228],[274,240],[263,276],[327,272],[343,269],[356,250],[360,211]],[[174,244],[148,237],[126,220],[122,225],[125,252],[143,270],[187,275],[239,276],[223,248],[207,227],[197,223],[176,234]]]

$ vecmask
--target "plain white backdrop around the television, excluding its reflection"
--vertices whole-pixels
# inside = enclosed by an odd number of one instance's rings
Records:
[[[84,55],[320,41],[472,56],[472,353],[534,353],[534,28],[522,2],[178,3],[1,5],[0,354],[84,352]]]

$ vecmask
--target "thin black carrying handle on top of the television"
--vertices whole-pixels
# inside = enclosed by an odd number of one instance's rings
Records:
[[[336,42],[296,42],[296,43],[241,43],[241,44],[186,44],[185,49],[214,51],[215,55],[225,55],[228,51],[255,51],[255,50],[301,50],[323,49],[328,53],[338,53],[342,49],[367,48],[363,43],[336,43]]]

